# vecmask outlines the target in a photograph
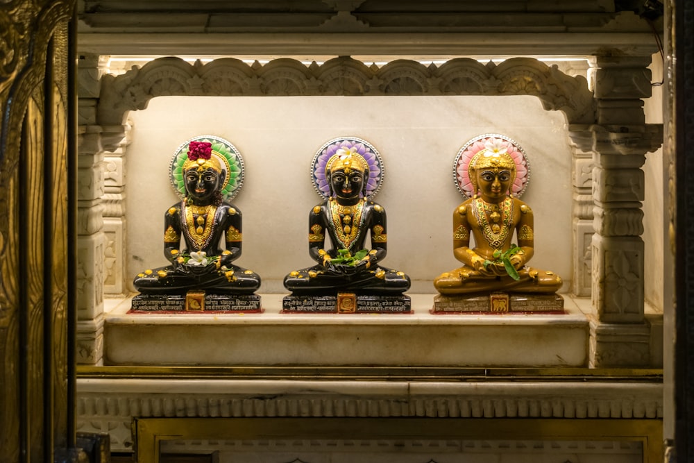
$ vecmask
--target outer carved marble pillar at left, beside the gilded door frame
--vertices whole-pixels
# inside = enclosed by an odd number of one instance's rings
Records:
[[[96,124],[99,56],[78,62],[78,229],[77,362],[99,364],[103,357],[103,148]]]

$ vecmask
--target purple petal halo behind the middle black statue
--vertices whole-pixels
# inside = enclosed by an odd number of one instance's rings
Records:
[[[369,165],[369,179],[366,180],[366,198],[373,199],[373,196],[380,190],[383,181],[385,171],[383,160],[371,143],[357,137],[333,138],[330,142],[323,144],[321,149],[318,150],[311,162],[311,176],[316,192],[323,196],[324,199],[330,197],[330,185],[328,185],[328,179],[325,178],[325,165],[328,164],[328,160],[339,149],[358,153],[366,160],[366,163]],[[361,195],[361,193],[359,194]]]

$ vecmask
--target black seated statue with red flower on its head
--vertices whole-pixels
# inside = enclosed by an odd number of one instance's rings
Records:
[[[228,173],[211,146],[189,144],[182,169],[185,197],[164,214],[164,255],[171,264],[137,275],[134,285],[142,294],[185,294],[191,289],[252,294],[260,287],[257,273],[232,264],[241,255],[241,211],[222,199]]]

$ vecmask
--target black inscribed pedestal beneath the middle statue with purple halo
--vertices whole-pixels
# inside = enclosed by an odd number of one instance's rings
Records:
[[[282,312],[305,314],[409,314],[409,296],[337,293],[323,296],[285,296]]]

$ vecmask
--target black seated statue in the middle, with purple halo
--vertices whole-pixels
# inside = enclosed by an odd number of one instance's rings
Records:
[[[309,254],[318,264],[289,273],[285,287],[293,294],[407,291],[409,277],[380,264],[386,256],[386,212],[366,198],[369,163],[359,153],[339,149],[325,165],[325,178],[330,197],[313,208],[308,225]],[[330,249],[325,249],[326,235]]]

